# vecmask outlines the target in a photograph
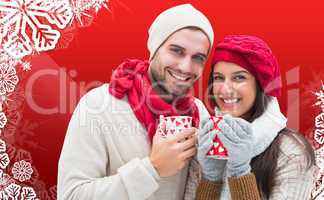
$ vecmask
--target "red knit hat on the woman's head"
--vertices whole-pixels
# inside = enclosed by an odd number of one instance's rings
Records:
[[[212,65],[218,61],[235,63],[253,74],[269,96],[281,94],[279,65],[269,46],[260,38],[229,35],[216,45]]]

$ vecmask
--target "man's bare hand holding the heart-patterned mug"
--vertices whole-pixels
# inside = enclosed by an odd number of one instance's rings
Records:
[[[153,138],[150,160],[160,177],[169,177],[182,170],[196,154],[197,129],[186,129],[166,137],[160,131],[157,130]]]

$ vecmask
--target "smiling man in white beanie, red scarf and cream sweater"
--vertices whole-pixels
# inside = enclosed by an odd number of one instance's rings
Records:
[[[183,199],[196,128],[208,116],[190,89],[213,39],[208,19],[189,4],[155,19],[150,62],[124,62],[109,85],[80,100],[59,160],[58,199]],[[160,115],[191,116],[195,128],[164,138],[156,134]]]

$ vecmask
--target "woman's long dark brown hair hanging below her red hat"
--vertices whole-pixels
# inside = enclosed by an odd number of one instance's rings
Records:
[[[212,73],[208,80],[208,95],[210,104],[217,106],[213,95],[213,68]],[[259,82],[257,81],[257,94],[255,102],[251,110],[249,111],[251,115],[248,117],[249,122],[253,122],[255,119],[260,117],[266,110],[268,103],[270,102],[270,97],[267,96],[263,89],[261,88]],[[262,193],[269,198],[272,188],[274,186],[275,171],[277,168],[277,161],[280,152],[280,145],[282,142],[282,137],[286,135],[293,139],[298,145],[300,145],[305,151],[307,158],[307,167],[311,167],[315,164],[315,155],[312,146],[307,142],[302,134],[297,133],[294,130],[284,128],[282,129],[278,136],[272,141],[270,146],[261,154],[254,157],[251,161],[252,172],[256,176],[257,185]]]

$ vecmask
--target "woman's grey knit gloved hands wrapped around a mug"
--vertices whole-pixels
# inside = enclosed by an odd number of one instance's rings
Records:
[[[225,115],[218,123],[221,131],[213,129],[214,121],[209,119],[198,132],[198,161],[203,177],[210,181],[221,181],[224,171],[227,176],[242,176],[250,173],[253,150],[251,124],[244,119]],[[228,160],[213,159],[206,156],[218,136],[228,152]]]

